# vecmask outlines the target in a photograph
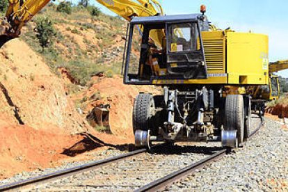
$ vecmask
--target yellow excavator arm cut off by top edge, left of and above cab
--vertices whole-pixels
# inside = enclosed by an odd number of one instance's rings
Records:
[[[9,38],[19,36],[24,24],[39,13],[49,1],[51,0],[9,0],[6,17],[0,18],[0,36],[6,35]],[[132,17],[163,15],[163,9],[157,0],[138,0],[138,3],[132,0],[95,1],[98,1],[127,21],[130,21]]]

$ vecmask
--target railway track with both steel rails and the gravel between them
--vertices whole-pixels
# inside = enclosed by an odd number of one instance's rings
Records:
[[[250,136],[257,134],[262,125],[263,121],[261,120],[257,129],[251,132]],[[77,191],[86,186],[94,191],[113,191],[118,187],[125,191],[158,191],[191,175],[193,171],[221,159],[227,152],[230,152],[221,147],[176,146],[173,147],[173,150],[168,148],[164,152],[159,150],[160,148],[163,150],[163,146],[155,146],[150,153],[147,153],[145,149],[136,150],[83,166],[7,184],[0,186],[0,191],[25,189],[29,191],[30,189]],[[178,152],[179,154],[177,154]],[[167,161],[170,163],[166,164]],[[120,178],[122,178],[122,182],[119,182]],[[147,184],[147,182],[150,183]]]

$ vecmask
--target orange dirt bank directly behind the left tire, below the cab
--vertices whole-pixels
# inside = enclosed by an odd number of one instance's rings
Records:
[[[95,106],[110,104],[110,129],[116,136],[128,138],[133,142],[132,110],[134,99],[139,92],[157,93],[151,86],[127,86],[123,84],[122,77],[94,79],[91,86],[82,96],[91,98],[97,94],[98,99],[88,101],[84,113],[88,113]]]

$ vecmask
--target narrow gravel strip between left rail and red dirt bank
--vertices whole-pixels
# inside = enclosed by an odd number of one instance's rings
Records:
[[[110,157],[115,157],[117,155],[124,154],[127,152],[128,152],[127,150],[126,151],[125,150],[115,150],[114,148],[110,148],[110,147],[106,150],[103,150],[103,151],[87,152],[86,155],[92,158],[89,161],[79,161],[79,162],[73,162],[73,163],[63,161],[62,165],[58,166],[56,168],[38,169],[38,170],[35,170],[32,172],[22,172],[22,173],[15,175],[14,177],[10,177],[8,179],[1,180],[0,186],[4,185],[4,184],[9,184],[12,182],[19,182],[19,181],[22,181],[24,179],[30,179],[32,177],[38,177],[41,175],[54,173],[56,171],[67,169],[67,168],[73,168],[75,166],[81,166],[81,165],[86,164],[86,163],[92,163],[93,161],[108,159]]]

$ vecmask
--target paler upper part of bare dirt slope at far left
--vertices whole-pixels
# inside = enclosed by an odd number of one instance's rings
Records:
[[[0,73],[0,120],[69,134],[87,131],[63,81],[24,42],[10,40],[0,49]]]

